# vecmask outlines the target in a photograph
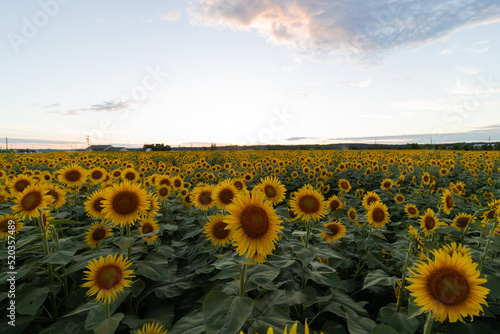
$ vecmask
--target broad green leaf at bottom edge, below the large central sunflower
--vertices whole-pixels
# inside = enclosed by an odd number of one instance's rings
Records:
[[[230,296],[221,291],[210,292],[203,301],[207,334],[237,333],[252,309],[251,298]]]

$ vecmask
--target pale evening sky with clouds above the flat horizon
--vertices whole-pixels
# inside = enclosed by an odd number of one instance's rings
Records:
[[[0,6],[0,148],[500,141],[498,0]]]

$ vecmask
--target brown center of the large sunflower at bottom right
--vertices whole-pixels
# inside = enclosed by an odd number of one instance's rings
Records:
[[[467,280],[456,270],[442,268],[430,274],[427,289],[434,299],[446,305],[463,303],[469,295]]]

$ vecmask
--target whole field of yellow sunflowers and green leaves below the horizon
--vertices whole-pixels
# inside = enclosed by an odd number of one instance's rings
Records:
[[[499,158],[1,154],[1,333],[498,333]]]

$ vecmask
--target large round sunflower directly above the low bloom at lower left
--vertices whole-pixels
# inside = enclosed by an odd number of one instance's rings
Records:
[[[139,215],[145,215],[149,209],[148,194],[136,183],[123,182],[106,190],[101,205],[105,218],[121,227],[134,225]]]

